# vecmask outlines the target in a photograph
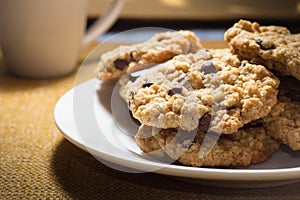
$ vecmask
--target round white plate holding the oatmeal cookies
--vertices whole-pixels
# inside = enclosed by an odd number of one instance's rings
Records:
[[[142,153],[130,135],[136,125],[128,120],[126,105],[114,88],[112,83],[91,79],[64,94],[54,110],[55,122],[65,138],[109,167],[226,187],[265,187],[300,181],[300,152],[286,147],[262,164],[240,169],[194,168],[153,160]]]

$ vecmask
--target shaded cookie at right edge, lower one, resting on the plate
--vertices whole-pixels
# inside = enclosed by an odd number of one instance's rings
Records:
[[[300,150],[300,102],[280,97],[263,121],[268,134],[273,138],[293,150]]]

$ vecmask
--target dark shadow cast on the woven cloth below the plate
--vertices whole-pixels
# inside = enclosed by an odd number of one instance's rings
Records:
[[[228,189],[194,185],[154,173],[125,173],[107,167],[63,139],[52,170],[72,199],[296,199],[300,184],[276,188]],[[298,189],[297,189],[298,188]]]

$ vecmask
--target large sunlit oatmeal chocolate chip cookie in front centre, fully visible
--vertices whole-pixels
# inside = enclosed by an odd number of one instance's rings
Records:
[[[271,111],[279,80],[229,49],[201,49],[127,84],[129,108],[143,125],[232,134]]]

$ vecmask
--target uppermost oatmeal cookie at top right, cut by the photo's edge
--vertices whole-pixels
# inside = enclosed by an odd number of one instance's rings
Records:
[[[300,80],[300,34],[281,26],[240,20],[224,35],[233,52],[252,63]]]

